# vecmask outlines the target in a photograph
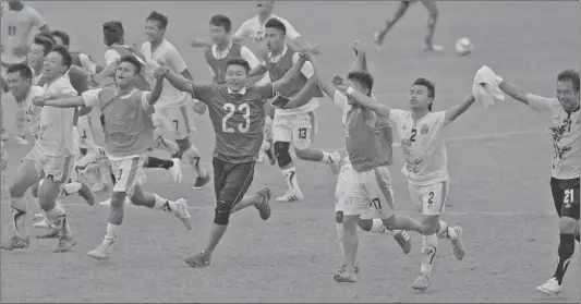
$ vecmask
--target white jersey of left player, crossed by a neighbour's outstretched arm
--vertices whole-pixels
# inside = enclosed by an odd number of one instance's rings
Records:
[[[64,77],[45,84],[45,94],[76,96],[76,90]],[[74,108],[43,107],[40,111],[40,131],[35,146],[44,155],[70,156],[75,151],[73,143]]]

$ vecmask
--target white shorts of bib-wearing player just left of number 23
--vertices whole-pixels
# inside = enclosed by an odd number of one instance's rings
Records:
[[[116,175],[113,192],[124,192],[128,197],[132,197],[135,186],[144,184],[147,179],[143,171],[145,156],[135,156],[121,160],[109,158],[109,165]]]

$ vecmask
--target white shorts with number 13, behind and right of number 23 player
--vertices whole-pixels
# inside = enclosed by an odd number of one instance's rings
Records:
[[[279,115],[273,120],[273,141],[293,143],[296,149],[307,149],[317,133],[315,112]]]

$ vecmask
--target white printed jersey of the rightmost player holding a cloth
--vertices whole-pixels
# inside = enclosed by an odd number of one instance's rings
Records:
[[[550,118],[553,135],[552,175],[559,180],[579,179],[581,174],[580,110],[567,112],[557,98],[546,98],[533,94],[526,96],[531,109]]]

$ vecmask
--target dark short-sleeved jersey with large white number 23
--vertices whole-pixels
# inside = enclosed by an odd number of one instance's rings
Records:
[[[226,85],[194,85],[195,98],[208,106],[216,133],[214,157],[230,163],[253,161],[263,144],[264,104],[273,97],[273,84],[231,94]]]

